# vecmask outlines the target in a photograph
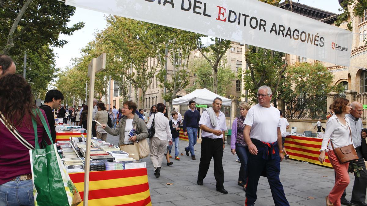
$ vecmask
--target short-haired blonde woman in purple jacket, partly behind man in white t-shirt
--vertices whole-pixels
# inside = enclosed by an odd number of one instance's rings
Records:
[[[247,184],[247,144],[243,138],[243,129],[246,115],[251,106],[247,102],[241,102],[240,105],[240,116],[235,118],[232,124],[232,136],[230,139],[230,148],[233,155],[237,153],[240,159],[241,167],[238,174],[237,184],[246,189]]]

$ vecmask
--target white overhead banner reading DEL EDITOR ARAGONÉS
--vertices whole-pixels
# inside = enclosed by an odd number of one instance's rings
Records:
[[[349,66],[352,32],[257,0],[66,0],[75,7]]]

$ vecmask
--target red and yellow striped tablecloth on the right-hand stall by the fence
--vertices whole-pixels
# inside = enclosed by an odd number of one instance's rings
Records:
[[[321,138],[287,136],[284,141],[284,147],[291,159],[297,159],[332,168],[333,166],[330,163],[327,153],[325,162],[323,164],[319,162],[321,143]]]

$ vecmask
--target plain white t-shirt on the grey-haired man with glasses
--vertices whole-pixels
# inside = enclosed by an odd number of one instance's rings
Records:
[[[262,107],[256,104],[248,110],[244,125],[251,126],[250,137],[266,143],[278,140],[278,127],[280,128],[280,112],[270,106]]]

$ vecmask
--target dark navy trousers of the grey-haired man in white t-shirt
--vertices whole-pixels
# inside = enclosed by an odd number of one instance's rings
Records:
[[[257,199],[257,185],[259,183],[260,175],[265,172],[268,177],[270,191],[272,192],[275,206],[289,206],[286,195],[284,194],[283,185],[280,183],[280,157],[276,155],[275,159],[263,159],[264,152],[269,152],[268,147],[257,147],[257,155],[250,154],[248,156],[248,175],[246,187],[246,201],[245,205],[254,205]],[[279,154],[278,148],[275,148],[275,153]],[[265,170],[265,171],[264,171]]]

